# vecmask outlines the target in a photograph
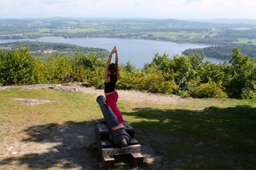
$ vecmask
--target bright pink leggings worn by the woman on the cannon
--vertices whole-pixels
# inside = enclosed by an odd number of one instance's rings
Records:
[[[106,95],[105,102],[106,102],[106,105],[109,105],[113,113],[116,115],[117,121],[119,123],[123,123],[122,114],[116,105],[117,98],[118,98],[118,93],[114,91],[113,93]]]

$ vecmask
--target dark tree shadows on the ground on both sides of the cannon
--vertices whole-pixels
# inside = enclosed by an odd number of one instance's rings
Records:
[[[135,137],[145,155],[154,159],[145,168],[256,167],[256,108],[249,105],[200,110],[134,108],[123,112],[137,121]],[[93,121],[49,123],[28,127],[23,142],[46,143],[42,152],[8,157],[0,165],[19,163],[32,169],[51,167],[96,169],[99,154],[88,150],[95,141]],[[159,158],[161,157],[161,158]]]

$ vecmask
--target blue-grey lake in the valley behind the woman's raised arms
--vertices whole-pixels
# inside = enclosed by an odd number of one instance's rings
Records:
[[[181,52],[188,48],[202,48],[211,45],[205,44],[189,44],[189,43],[174,43],[168,41],[156,41],[145,39],[120,39],[120,38],[56,38],[56,37],[42,37],[39,39],[0,39],[0,43],[10,41],[32,40],[42,42],[62,42],[72,43],[80,46],[105,48],[111,51],[116,45],[118,50],[118,60],[120,63],[126,63],[131,60],[131,63],[138,68],[142,68],[144,63],[151,62],[155,53],[169,54],[172,58],[174,55],[181,55]],[[114,55],[113,55],[114,56]],[[212,62],[223,62],[222,59],[209,58]],[[114,62],[114,59],[112,59]]]

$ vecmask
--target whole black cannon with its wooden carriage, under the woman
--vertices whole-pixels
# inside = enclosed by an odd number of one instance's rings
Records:
[[[144,157],[140,153],[141,145],[134,137],[134,128],[129,123],[123,122],[123,129],[113,131],[112,127],[118,124],[116,116],[109,106],[105,106],[104,96],[98,96],[97,102],[104,115],[104,119],[95,120],[96,147],[102,159],[99,167],[109,169],[127,164],[142,165]],[[122,161],[115,160],[120,157]]]

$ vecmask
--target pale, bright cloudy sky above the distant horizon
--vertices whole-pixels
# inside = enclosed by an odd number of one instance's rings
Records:
[[[0,0],[0,18],[256,19],[256,0]]]

